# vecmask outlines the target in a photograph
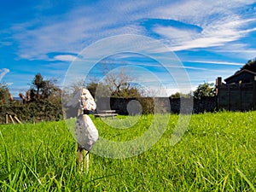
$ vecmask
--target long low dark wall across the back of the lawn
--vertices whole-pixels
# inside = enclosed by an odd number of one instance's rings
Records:
[[[137,102],[134,102],[137,101]],[[142,98],[96,98],[96,110],[113,109],[119,114],[130,114],[129,104],[134,102],[141,105],[142,113],[204,113],[216,110],[216,96],[204,97],[201,100],[183,98],[183,109],[181,110],[181,99],[170,97],[142,97]],[[155,105],[157,108],[154,108]],[[139,106],[134,106],[132,112],[139,113]],[[192,108],[193,107],[193,108]]]

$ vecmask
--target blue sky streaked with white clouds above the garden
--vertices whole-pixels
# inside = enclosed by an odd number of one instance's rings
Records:
[[[195,89],[229,77],[256,57],[256,1],[1,1],[0,80],[14,96],[29,89],[36,73],[61,85],[83,49],[123,34],[168,47]],[[138,77],[145,70],[159,75],[168,94],[177,91],[175,80],[152,60],[129,55],[120,62],[140,66]],[[143,77],[154,84],[150,75]]]

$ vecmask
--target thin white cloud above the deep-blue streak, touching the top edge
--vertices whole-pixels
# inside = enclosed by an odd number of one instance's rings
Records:
[[[182,0],[175,3],[166,3],[154,9],[154,15],[162,19],[181,20],[197,26],[208,26],[218,20],[236,20],[240,17],[237,9],[245,8],[255,3],[253,0],[241,1],[211,1]],[[254,12],[254,10],[251,10]],[[241,13],[240,13],[241,14]],[[244,13],[243,13],[244,14]]]

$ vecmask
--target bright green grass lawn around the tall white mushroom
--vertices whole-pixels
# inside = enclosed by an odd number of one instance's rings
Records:
[[[153,116],[134,124],[136,118],[119,116],[110,125],[92,119],[101,137],[120,142],[143,135]],[[0,191],[255,191],[256,112],[193,114],[172,146],[177,119],[171,115],[143,154],[90,154],[88,173],[76,166],[76,143],[64,121],[0,125]]]

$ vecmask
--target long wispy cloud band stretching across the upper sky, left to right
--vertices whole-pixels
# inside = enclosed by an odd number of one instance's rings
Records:
[[[96,3],[97,7],[104,8],[100,13],[96,7],[80,6],[61,15],[61,19],[51,16],[43,22],[32,20],[30,23],[15,24],[13,38],[20,44],[17,54],[21,58],[47,60],[47,53],[79,53],[85,46],[101,38],[124,33],[147,35],[143,26],[137,23],[142,18],[171,18],[202,28],[202,32],[173,26],[152,28],[165,43],[170,43],[168,45],[172,50],[224,46],[256,30],[242,29],[255,19],[242,19],[233,10],[252,2],[114,2],[115,6],[100,2]]]

